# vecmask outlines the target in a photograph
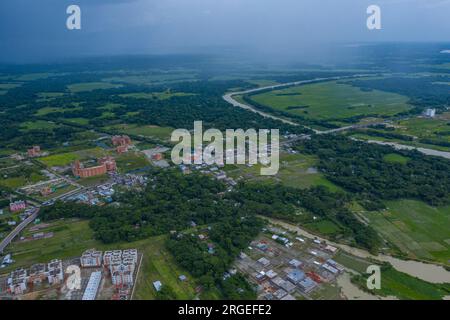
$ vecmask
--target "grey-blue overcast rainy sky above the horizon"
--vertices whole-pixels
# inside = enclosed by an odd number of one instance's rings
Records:
[[[66,28],[70,4],[81,30]],[[371,4],[382,30],[366,27]],[[450,42],[450,0],[0,0],[0,61],[361,41]]]

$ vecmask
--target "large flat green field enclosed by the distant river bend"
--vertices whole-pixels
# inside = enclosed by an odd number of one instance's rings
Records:
[[[253,95],[251,99],[275,110],[320,120],[392,116],[411,108],[407,97],[378,90],[362,91],[336,81],[274,90]]]

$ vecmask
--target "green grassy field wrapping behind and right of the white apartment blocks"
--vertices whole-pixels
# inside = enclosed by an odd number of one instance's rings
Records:
[[[173,257],[164,247],[164,236],[152,237],[130,243],[105,245],[94,239],[94,234],[87,221],[58,220],[40,232],[53,232],[54,236],[28,242],[13,242],[8,248],[16,260],[13,266],[2,269],[6,273],[19,266],[28,267],[38,262],[48,262],[54,258],[67,259],[78,257],[89,248],[98,250],[136,248],[143,253],[135,299],[154,299],[153,281],[160,280],[163,285],[170,286],[177,299],[193,299],[196,287],[195,280],[177,267]],[[29,231],[25,235],[30,235]],[[178,276],[187,276],[186,282],[180,282]]]

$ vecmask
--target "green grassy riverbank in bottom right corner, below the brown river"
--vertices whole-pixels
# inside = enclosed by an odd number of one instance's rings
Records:
[[[334,260],[362,274],[364,278],[358,284],[361,289],[367,290],[365,283],[367,274],[365,272],[367,267],[373,264],[372,262],[342,252],[335,256]],[[449,289],[450,284],[432,284],[394,268],[388,268],[381,272],[381,289],[371,292],[381,296],[395,296],[404,300],[439,300],[448,295]]]

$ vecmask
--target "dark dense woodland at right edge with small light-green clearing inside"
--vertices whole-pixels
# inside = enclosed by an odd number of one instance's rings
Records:
[[[297,148],[317,155],[319,168],[329,180],[366,199],[416,198],[431,205],[450,202],[450,161],[445,158],[339,135],[315,136]],[[392,153],[408,161],[386,161]]]

